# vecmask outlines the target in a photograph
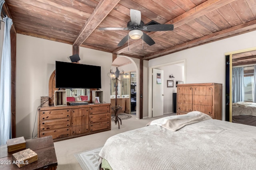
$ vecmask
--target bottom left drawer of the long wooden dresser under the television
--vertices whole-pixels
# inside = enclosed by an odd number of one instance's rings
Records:
[[[68,136],[70,136],[70,128],[62,128],[62,129],[56,129],[56,130],[50,130],[50,131],[43,131],[40,133],[40,137],[46,137],[46,136],[51,136],[51,135],[52,135],[52,139],[68,137]]]

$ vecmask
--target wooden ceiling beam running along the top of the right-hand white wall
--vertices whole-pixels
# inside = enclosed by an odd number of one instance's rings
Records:
[[[256,30],[256,20],[253,20],[253,21],[250,21],[250,22],[247,22],[247,23],[243,23],[243,24],[237,25],[235,27],[230,27],[228,29],[224,29],[222,31],[212,33],[210,35],[206,35],[204,37],[194,39],[194,40],[189,41],[187,43],[176,45],[175,47],[164,49],[161,52],[152,53],[150,55],[145,56],[144,60],[154,59],[156,57],[160,57],[160,56],[163,56],[163,55],[168,55],[170,53],[174,53],[174,52],[181,51],[181,50],[184,50],[184,49],[188,49],[188,48],[191,48],[191,47],[195,47],[195,46],[198,46],[198,45],[210,43],[210,42],[217,41],[217,40],[220,40],[220,39],[232,37],[234,35],[239,35],[239,34],[242,34],[242,33],[253,31],[253,30]]]

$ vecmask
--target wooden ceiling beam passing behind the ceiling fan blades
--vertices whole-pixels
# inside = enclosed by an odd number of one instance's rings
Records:
[[[207,14],[208,12],[211,12],[213,10],[216,10],[220,8],[221,6],[224,6],[226,4],[229,4],[230,2],[233,2],[234,0],[207,0],[206,2],[196,6],[195,8],[192,8],[188,12],[185,12],[184,14],[174,18],[173,20],[170,20],[166,22],[166,24],[173,24],[174,29],[175,27],[179,27],[180,25],[183,25],[185,23],[188,23],[189,21],[192,21],[200,16],[203,16]],[[156,31],[156,32],[150,32],[148,35],[151,38],[157,37],[159,35],[162,35],[166,33],[167,31]],[[141,41],[136,41],[132,44],[129,44],[129,48],[134,48],[138,45],[142,44]],[[123,45],[122,47],[116,49],[113,51],[115,54],[123,53],[127,50],[128,45]]]

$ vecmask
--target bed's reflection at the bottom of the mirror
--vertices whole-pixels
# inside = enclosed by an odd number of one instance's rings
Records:
[[[256,103],[233,103],[232,122],[256,126]]]

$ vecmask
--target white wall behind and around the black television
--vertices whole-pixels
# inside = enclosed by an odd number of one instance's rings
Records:
[[[16,51],[16,136],[26,138],[37,134],[37,107],[40,97],[48,96],[48,82],[55,70],[55,61],[71,62],[72,45],[17,34]],[[80,63],[101,66],[103,100],[110,102],[107,73],[112,54],[80,47]],[[80,73],[88,81],[90,70]],[[72,78],[68,78],[72,80]],[[84,81],[84,80],[83,80]],[[108,83],[106,83],[108,82]],[[35,124],[35,127],[34,127]]]

